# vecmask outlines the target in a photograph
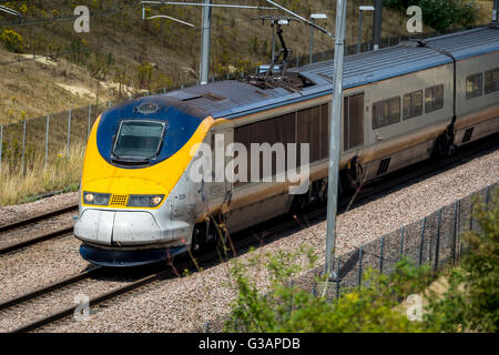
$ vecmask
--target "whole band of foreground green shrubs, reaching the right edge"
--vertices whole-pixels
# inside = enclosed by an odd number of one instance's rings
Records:
[[[312,250],[253,255],[233,262],[236,287],[226,332],[498,332],[499,326],[499,189],[489,205],[476,203],[479,232],[466,232],[460,265],[432,274],[405,258],[390,275],[368,270],[359,287],[346,290],[333,302],[318,287],[314,295],[289,284],[315,266]],[[301,263],[297,261],[302,261]],[[249,274],[265,272],[269,292]],[[428,287],[440,276],[444,292]],[[316,280],[320,285],[320,280]],[[323,283],[324,284],[324,283]],[[422,321],[411,322],[400,302],[410,294],[424,295]]]

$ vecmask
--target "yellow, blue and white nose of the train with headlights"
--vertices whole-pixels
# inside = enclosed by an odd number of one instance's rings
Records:
[[[183,253],[205,210],[189,179],[211,116],[165,95],[110,109],[89,136],[74,235],[86,261],[133,266]]]

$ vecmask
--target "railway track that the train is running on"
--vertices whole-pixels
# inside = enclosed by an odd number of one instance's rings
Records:
[[[413,165],[407,171],[403,173],[397,173],[390,175],[390,179],[388,181],[379,181],[369,185],[365,186],[365,191],[359,192],[356,195],[356,201],[359,202],[364,200],[367,196],[373,196],[376,193],[380,193],[383,191],[386,191],[387,189],[394,187],[394,186],[400,186],[403,184],[407,184],[410,182],[414,182],[418,178],[428,175],[428,174],[438,174],[439,172],[444,171],[446,168],[454,165],[458,163],[461,160],[466,160],[467,158],[473,156],[477,153],[498,146],[498,136],[495,135],[491,139],[487,141],[481,141],[477,144],[470,145],[466,151],[461,150],[458,151],[457,154],[445,159],[440,161],[434,161],[434,162],[424,162],[418,165]],[[344,209],[345,206],[349,205],[350,199],[345,199],[340,202],[340,205]],[[292,229],[298,229],[303,227],[302,221],[309,225],[314,223],[314,221],[323,221],[326,216],[326,206],[325,204],[318,204],[316,206],[313,206],[308,209],[307,211],[304,211],[298,216],[296,215],[284,215],[279,216],[277,219],[274,219],[268,222],[264,222],[257,226],[254,226],[252,229],[245,230],[243,232],[236,233],[232,241],[234,242],[234,252],[231,247],[227,246],[226,251],[228,251],[228,257],[233,257],[234,255],[241,254],[244,252],[244,250],[248,248],[249,246],[261,246],[265,245],[272,241],[275,240],[275,237],[283,232],[289,231]],[[265,237],[257,237],[255,236],[257,233],[262,233],[262,235],[265,235]],[[204,253],[198,256],[197,264],[200,267],[206,268],[210,267],[210,265],[220,263],[220,250],[211,250],[207,253]],[[193,261],[189,257],[189,255],[183,255],[176,260],[175,268],[172,267],[173,263],[170,264],[170,266],[160,267],[159,270],[152,270],[151,272],[146,273],[143,276],[138,277],[136,280],[132,282],[128,282],[126,284],[114,287],[110,290],[109,292],[98,294],[93,298],[90,300],[90,307],[94,308],[95,306],[104,304],[106,301],[133,294],[134,292],[138,292],[144,287],[152,286],[160,282],[165,282],[167,280],[171,280],[173,277],[180,276],[176,270],[196,270],[196,265],[194,265]],[[32,302],[37,302],[37,300],[40,300],[41,297],[50,294],[55,293],[61,290],[67,290],[69,286],[78,284],[80,282],[83,282],[85,280],[89,280],[91,277],[100,277],[104,275],[104,270],[102,267],[95,267],[91,271],[86,271],[84,273],[68,277],[67,280],[63,280],[57,284],[52,284],[48,287],[43,287],[33,292],[30,292],[29,294],[21,295],[17,298],[7,301],[2,304],[0,304],[0,311],[6,312],[9,310],[14,310],[16,307],[20,307],[26,304],[30,304]],[[74,305],[68,306],[65,308],[61,308],[58,312],[54,312],[48,316],[40,317],[35,321],[32,321],[30,323],[23,324],[14,329],[12,332],[19,333],[19,332],[31,332],[39,329],[43,326],[51,325],[55,322],[63,321],[68,318],[69,316],[73,315],[74,313]]]

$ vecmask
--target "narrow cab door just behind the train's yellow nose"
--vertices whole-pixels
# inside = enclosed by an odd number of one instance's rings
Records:
[[[226,155],[227,145],[234,140],[233,128],[212,131],[212,182],[210,197],[215,204],[222,205],[222,213],[227,210],[232,199],[232,180],[226,176],[226,166],[231,156]]]

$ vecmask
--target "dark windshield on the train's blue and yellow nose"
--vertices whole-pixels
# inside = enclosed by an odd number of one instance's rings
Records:
[[[118,159],[149,160],[157,155],[165,124],[153,121],[122,121],[115,138],[113,155]]]

